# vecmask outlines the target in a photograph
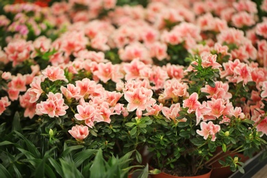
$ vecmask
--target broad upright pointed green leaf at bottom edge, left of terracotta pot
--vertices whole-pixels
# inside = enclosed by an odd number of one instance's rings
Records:
[[[90,177],[102,178],[104,174],[105,174],[104,159],[102,155],[102,150],[99,149],[99,151],[97,151],[96,157],[94,157],[94,162],[92,162],[92,166],[90,168]]]

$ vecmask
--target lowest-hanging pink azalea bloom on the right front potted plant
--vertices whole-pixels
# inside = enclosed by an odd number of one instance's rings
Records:
[[[220,125],[214,125],[212,121],[209,121],[209,123],[202,122],[201,123],[201,130],[197,129],[196,133],[198,133],[200,136],[203,136],[205,140],[207,138],[211,137],[212,141],[214,142],[216,140],[216,133],[220,131]]]

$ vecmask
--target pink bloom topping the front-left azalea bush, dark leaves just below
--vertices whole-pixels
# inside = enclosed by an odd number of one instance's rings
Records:
[[[42,74],[51,81],[63,80],[68,82],[66,76],[64,75],[64,70],[58,66],[49,66],[45,68]]]

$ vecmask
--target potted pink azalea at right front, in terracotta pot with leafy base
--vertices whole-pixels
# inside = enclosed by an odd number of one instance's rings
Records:
[[[160,96],[165,106],[153,116],[147,139],[153,168],[169,175],[209,177],[213,164],[220,162],[221,167],[244,173],[244,160],[237,153],[251,157],[266,145],[256,129],[263,118],[255,123],[233,106],[228,84],[218,81],[219,67],[216,55],[196,57],[183,80],[170,81],[172,90],[166,86]]]

